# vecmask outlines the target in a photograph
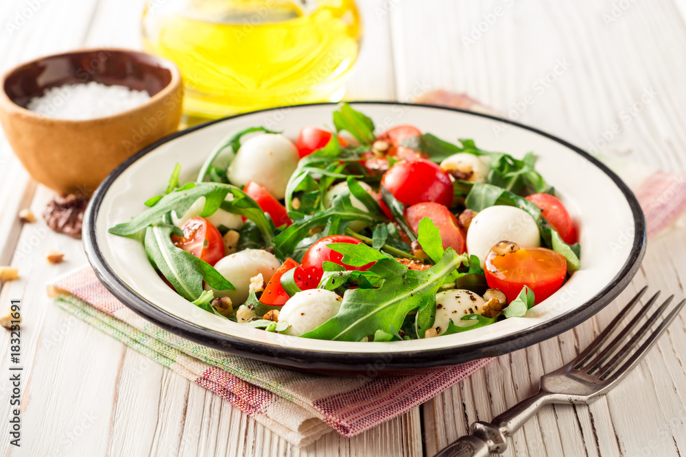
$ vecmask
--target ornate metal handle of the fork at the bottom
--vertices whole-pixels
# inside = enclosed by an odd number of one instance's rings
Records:
[[[541,406],[554,402],[555,395],[539,391],[493,418],[491,423],[475,422],[469,435],[441,449],[434,457],[487,457],[502,454],[508,447],[506,436],[517,432]]]

